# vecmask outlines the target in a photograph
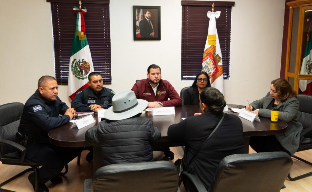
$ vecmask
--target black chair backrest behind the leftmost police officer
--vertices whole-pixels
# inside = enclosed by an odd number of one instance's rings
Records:
[[[20,123],[24,105],[22,103],[7,103],[0,106],[0,140],[17,142],[16,132]],[[13,147],[0,144],[2,155],[17,151]]]

